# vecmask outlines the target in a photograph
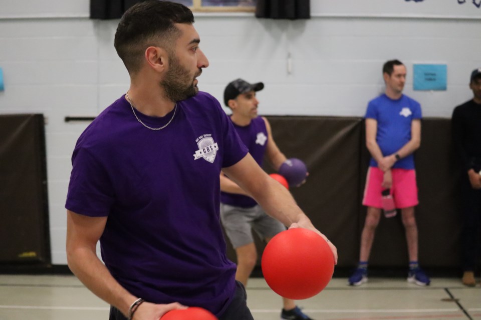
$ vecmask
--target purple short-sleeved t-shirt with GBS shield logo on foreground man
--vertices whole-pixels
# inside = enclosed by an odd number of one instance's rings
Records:
[[[166,124],[174,111],[151,117]],[[177,102],[151,130],[124,96],[75,146],[66,208],[108,216],[102,259],[132,294],[221,314],[235,290],[219,219],[219,174],[248,152],[219,102],[205,92]]]

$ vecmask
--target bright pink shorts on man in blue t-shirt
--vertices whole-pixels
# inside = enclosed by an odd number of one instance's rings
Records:
[[[396,208],[407,208],[419,203],[417,199],[416,171],[414,169],[391,169],[392,186],[391,194]],[[362,204],[382,208],[381,184],[384,172],[375,166],[370,166],[367,171],[366,187]]]

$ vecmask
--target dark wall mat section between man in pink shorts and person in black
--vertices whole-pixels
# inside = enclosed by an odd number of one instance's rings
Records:
[[[416,153],[419,205],[419,259],[435,266],[458,266],[461,214],[460,171],[446,118],[422,121],[421,147]]]

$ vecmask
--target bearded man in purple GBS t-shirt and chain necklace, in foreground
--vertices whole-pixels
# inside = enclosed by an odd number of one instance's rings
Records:
[[[169,1],[143,1],[124,13],[114,45],[130,88],[73,152],[67,259],[111,304],[111,320],[158,320],[186,306],[220,320],[252,319],[225,254],[221,169],[269,214],[319,232],[248,153],[218,101],[198,91],[208,60],[193,21],[187,7]]]

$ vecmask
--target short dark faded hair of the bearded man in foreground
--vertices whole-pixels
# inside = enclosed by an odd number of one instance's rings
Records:
[[[192,11],[183,4],[159,0],[142,1],[125,11],[114,46],[129,73],[140,70],[148,46],[172,50],[173,40],[180,35],[175,23],[194,23]]]

